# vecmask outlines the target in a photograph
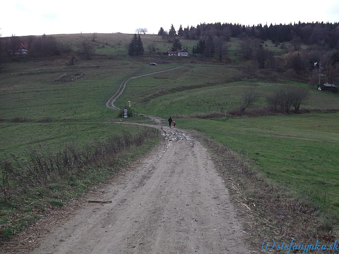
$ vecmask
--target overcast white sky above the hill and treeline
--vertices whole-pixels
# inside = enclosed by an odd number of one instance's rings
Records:
[[[204,2],[204,3],[202,3]],[[135,33],[200,23],[242,25],[339,22],[339,0],[2,0],[2,37],[60,33]]]

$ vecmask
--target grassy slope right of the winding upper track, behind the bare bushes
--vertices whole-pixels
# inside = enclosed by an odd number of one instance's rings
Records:
[[[133,79],[116,104],[123,106],[125,101],[131,100],[137,111],[165,118],[170,115],[224,112],[237,109],[242,95],[249,88],[255,88],[258,94],[253,106],[266,106],[267,95],[278,85],[286,83],[309,90],[302,107],[339,108],[338,94],[321,92],[301,82],[247,80],[236,67],[207,64],[186,64],[175,72]]]

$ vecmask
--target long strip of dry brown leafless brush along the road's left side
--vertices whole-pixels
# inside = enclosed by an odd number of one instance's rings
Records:
[[[11,192],[21,193],[31,187],[45,186],[58,179],[77,176],[88,165],[115,165],[123,150],[140,146],[157,134],[155,129],[145,128],[135,134],[123,132],[123,136],[113,135],[106,141],[95,140],[82,149],[76,144],[67,145],[57,152],[40,146],[25,152],[29,158],[27,162],[12,155],[11,161],[0,163],[2,197],[8,199]]]

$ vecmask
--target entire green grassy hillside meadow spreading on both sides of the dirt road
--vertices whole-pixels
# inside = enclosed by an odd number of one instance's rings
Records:
[[[154,147],[161,140],[160,132],[114,124],[152,124],[143,115],[161,117],[164,125],[172,116],[177,128],[227,147],[233,159],[246,162],[261,180],[312,210],[310,221],[316,224],[310,237],[317,232],[327,240],[337,236],[339,94],[317,90],[308,70],[282,64],[295,54],[291,42],[262,41],[275,61],[270,68],[259,68],[256,60],[244,58],[240,38],[229,38],[227,53],[219,61],[199,54],[169,57],[166,51],[172,42],[151,34],[140,35],[143,55],[131,57],[127,53],[132,37],[53,35],[67,48],[61,54],[28,54],[1,63],[1,241]],[[81,51],[84,41],[93,46],[89,58]],[[180,42],[190,52],[199,43],[183,38]],[[149,45],[154,50],[148,51]],[[180,68],[128,82],[115,105],[124,108],[130,101],[137,117],[121,119],[119,112],[105,106],[127,78],[173,67]],[[321,81],[326,81],[325,76]],[[298,113],[293,106],[289,112],[272,109],[268,98],[281,87],[306,92]],[[255,92],[255,100],[241,112],[248,91]],[[242,188],[246,192],[246,184]]]

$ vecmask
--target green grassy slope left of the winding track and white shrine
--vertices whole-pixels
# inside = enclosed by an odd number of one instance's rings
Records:
[[[0,75],[1,155],[21,154],[21,149],[41,143],[83,144],[121,132],[123,127],[109,124],[117,112],[106,108],[106,101],[127,76],[152,71],[148,64],[128,60],[84,61],[75,67],[66,62],[11,63],[8,73]],[[79,72],[85,75],[74,82],[51,81]]]

